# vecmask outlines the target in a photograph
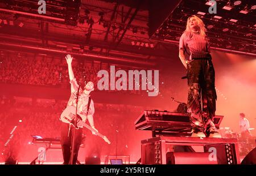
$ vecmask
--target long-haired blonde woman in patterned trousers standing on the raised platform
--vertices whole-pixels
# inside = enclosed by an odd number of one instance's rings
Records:
[[[188,113],[193,137],[221,138],[213,117],[216,111],[215,72],[203,21],[193,15],[180,37],[179,58],[187,69]]]

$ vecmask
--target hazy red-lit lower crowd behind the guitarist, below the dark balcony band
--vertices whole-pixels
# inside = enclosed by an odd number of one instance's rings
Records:
[[[9,103],[8,103],[9,102]],[[33,150],[32,136],[43,138],[60,138],[60,114],[67,105],[67,101],[59,102],[14,102],[5,101],[0,113],[0,150],[3,158],[14,157],[17,160],[26,160],[28,151]],[[108,139],[112,145],[105,145],[105,141],[84,128],[83,144],[86,145],[86,154],[104,157],[104,154],[114,155],[115,143],[118,138],[118,153],[129,154],[127,144],[133,139],[135,130],[134,121],[142,113],[142,107],[117,104],[94,104],[94,124],[97,129]],[[8,109],[8,110],[5,110]],[[9,140],[11,130],[13,138]],[[118,133],[117,133],[118,131]],[[87,145],[88,144],[88,145]],[[29,158],[29,157],[28,157]]]

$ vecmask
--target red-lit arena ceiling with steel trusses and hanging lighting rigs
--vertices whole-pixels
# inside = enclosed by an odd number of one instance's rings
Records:
[[[4,0],[0,2],[0,49],[71,53],[154,67],[173,59],[188,16],[197,14],[206,24],[213,49],[256,54],[255,1],[217,1],[215,15],[209,14],[208,1],[179,1],[150,35],[149,18],[158,14],[150,11],[149,2],[47,0],[46,14],[39,14],[38,1]]]

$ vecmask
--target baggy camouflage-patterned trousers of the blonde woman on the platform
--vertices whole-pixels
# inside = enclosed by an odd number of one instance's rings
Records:
[[[216,111],[215,72],[210,59],[195,59],[188,63],[188,113],[193,130],[216,131],[212,121]]]

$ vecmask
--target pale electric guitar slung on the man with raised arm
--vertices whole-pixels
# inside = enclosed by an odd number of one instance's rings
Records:
[[[100,132],[97,132],[96,130],[94,130],[92,127],[90,127],[85,123],[86,115],[77,113],[76,126],[75,126],[75,117],[76,117],[76,108],[74,106],[67,106],[67,108],[64,109],[64,111],[61,113],[60,120],[64,123],[71,124],[76,129],[86,127],[90,131],[93,131],[97,136],[100,136],[102,139],[104,139],[106,143],[111,144],[111,142],[106,136],[100,134]]]

